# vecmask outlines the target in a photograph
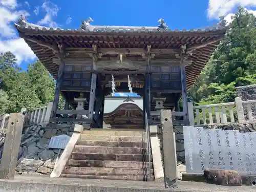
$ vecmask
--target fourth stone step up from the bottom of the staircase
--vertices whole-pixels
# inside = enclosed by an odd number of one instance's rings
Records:
[[[148,162],[148,155],[132,154],[99,154],[99,153],[72,153],[70,159],[97,160],[97,161],[140,161]],[[151,155],[152,159],[152,155]]]

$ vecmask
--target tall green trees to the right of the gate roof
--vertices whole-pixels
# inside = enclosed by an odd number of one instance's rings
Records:
[[[236,87],[256,83],[256,17],[239,7],[189,95],[199,104],[234,101]]]

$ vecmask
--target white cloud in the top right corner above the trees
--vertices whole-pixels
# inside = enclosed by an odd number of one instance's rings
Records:
[[[237,6],[256,7],[255,0],[209,0],[208,16],[210,18],[219,18],[223,15],[233,13]],[[253,10],[250,10],[254,12]]]

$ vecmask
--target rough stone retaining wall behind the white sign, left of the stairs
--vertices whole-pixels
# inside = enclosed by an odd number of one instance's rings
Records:
[[[72,125],[62,125],[61,129],[51,129],[41,125],[24,128],[16,172],[18,174],[51,174],[59,150],[49,150],[48,144],[51,137],[62,134],[72,136]]]

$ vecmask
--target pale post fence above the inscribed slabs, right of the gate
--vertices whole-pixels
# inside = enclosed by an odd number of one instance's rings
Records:
[[[193,103],[189,102],[189,124],[203,126],[252,122],[256,120],[256,113],[253,114],[252,109],[256,111],[256,100],[242,101],[240,97],[237,97],[234,102],[198,106],[193,106]]]

